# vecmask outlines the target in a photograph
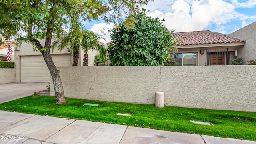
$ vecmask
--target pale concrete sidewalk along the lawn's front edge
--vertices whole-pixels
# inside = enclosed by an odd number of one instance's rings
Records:
[[[256,142],[0,111],[0,144],[256,144]]]

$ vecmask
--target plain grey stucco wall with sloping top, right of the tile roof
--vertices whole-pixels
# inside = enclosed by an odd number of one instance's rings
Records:
[[[229,34],[230,36],[234,36],[237,38],[245,39],[245,45],[243,48],[238,51],[238,58],[244,58],[244,64],[246,61],[255,60],[256,59],[256,22],[249,24],[235,32]]]

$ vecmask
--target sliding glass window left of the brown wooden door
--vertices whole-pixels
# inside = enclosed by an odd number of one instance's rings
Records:
[[[178,53],[170,55],[175,61],[176,66],[196,66],[197,53]]]

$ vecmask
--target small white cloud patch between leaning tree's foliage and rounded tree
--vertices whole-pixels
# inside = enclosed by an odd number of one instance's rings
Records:
[[[105,39],[100,39],[99,41],[100,42],[103,42],[103,43],[108,43],[111,41],[110,39],[110,33],[108,32],[108,29],[112,29],[114,26],[113,23],[110,23],[110,24],[106,24],[106,23],[99,23],[99,24],[94,24],[92,26],[92,28],[90,28],[89,30],[93,31],[93,32],[96,32],[100,35],[102,35],[102,37]]]

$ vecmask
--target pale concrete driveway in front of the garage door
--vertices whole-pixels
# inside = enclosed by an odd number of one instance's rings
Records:
[[[23,98],[34,94],[36,91],[46,90],[48,83],[34,82],[14,82],[9,84],[0,84],[0,104],[18,98]]]

